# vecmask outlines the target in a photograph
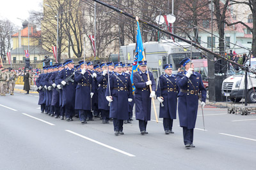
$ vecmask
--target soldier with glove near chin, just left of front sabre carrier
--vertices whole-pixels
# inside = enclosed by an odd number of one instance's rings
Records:
[[[102,73],[97,76],[97,82],[99,83],[98,91],[98,108],[102,117],[102,124],[109,124],[109,102],[105,98],[107,85],[108,85],[108,69],[107,64],[100,64]]]

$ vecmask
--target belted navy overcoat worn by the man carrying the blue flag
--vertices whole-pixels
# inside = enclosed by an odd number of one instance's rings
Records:
[[[154,76],[149,72],[149,78],[152,81],[152,90],[156,92],[156,82]],[[135,114],[137,120],[150,120],[151,115],[151,98],[149,86],[145,82],[148,81],[147,71],[142,73],[138,71],[133,74],[133,83],[135,86]]]

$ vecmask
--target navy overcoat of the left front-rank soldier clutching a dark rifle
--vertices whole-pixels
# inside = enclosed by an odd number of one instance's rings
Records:
[[[58,81],[61,82],[65,80],[70,74],[74,73],[74,69],[63,69],[60,72],[60,76],[58,77]],[[74,80],[74,76],[72,76],[72,79]],[[65,86],[63,86],[63,92],[62,92],[62,106],[67,109],[74,109],[75,108],[75,101],[76,101],[76,86],[77,83],[74,81],[72,83],[69,81]]]

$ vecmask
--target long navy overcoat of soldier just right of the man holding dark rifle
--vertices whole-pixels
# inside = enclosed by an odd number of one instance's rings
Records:
[[[81,74],[80,71],[76,71],[75,80],[77,81],[75,109],[91,110],[91,89],[95,94],[95,86],[92,76],[88,72]]]

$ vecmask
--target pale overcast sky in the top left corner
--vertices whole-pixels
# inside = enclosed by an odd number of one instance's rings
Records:
[[[40,11],[43,0],[1,0],[0,18],[9,19],[13,24],[21,27],[22,21],[29,17],[29,11]]]

